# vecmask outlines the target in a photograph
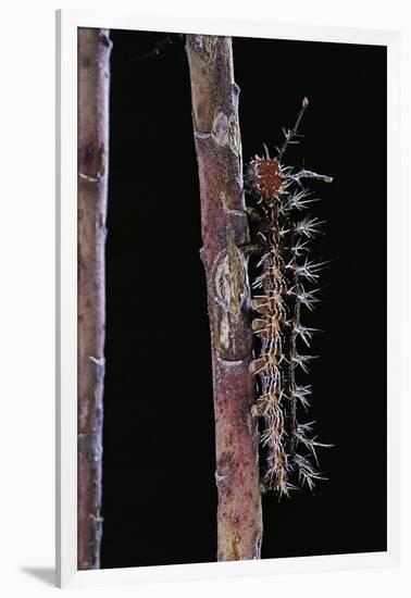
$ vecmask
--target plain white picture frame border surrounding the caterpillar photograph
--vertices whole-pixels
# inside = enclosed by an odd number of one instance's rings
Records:
[[[386,552],[77,571],[77,27],[384,45],[388,64],[388,549]],[[60,587],[393,566],[400,558],[400,34],[163,16],[57,13],[57,582]]]

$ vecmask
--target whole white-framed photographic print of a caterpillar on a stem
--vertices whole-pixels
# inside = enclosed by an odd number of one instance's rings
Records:
[[[58,13],[59,585],[398,562],[398,55]]]

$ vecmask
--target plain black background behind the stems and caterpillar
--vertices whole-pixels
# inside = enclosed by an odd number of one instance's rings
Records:
[[[102,566],[215,560],[210,338],[184,37],[111,33]],[[165,42],[164,42],[165,40]],[[163,41],[163,43],[161,43]],[[158,46],[160,42],[160,47]],[[159,53],[151,53],[155,48]],[[234,39],[244,159],[274,151],[316,185],[332,260],[304,382],[332,449],[314,494],[263,498],[263,558],[386,549],[386,50]],[[304,160],[304,162],[303,162]],[[302,376],[304,376],[302,374]]]

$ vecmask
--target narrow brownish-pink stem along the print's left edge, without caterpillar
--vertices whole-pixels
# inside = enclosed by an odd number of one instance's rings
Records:
[[[78,29],[78,569],[100,568],[110,51]]]

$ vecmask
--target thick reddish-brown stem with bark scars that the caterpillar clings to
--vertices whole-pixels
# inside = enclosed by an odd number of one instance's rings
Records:
[[[217,559],[258,559],[262,536],[258,424],[251,415],[249,241],[242,188],[239,88],[229,37],[186,45],[201,192],[201,257],[211,328],[219,490]]]

